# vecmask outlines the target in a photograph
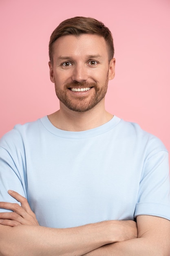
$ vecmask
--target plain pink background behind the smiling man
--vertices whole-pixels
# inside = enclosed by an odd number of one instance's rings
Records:
[[[170,150],[170,0],[0,0],[0,137],[58,109],[49,37],[74,16],[102,20],[113,33],[116,76],[106,109]]]

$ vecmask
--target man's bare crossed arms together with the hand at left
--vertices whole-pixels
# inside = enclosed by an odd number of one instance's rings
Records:
[[[81,227],[53,229],[40,227],[25,198],[21,202],[0,202],[1,256],[170,256],[170,221],[138,216],[133,221],[104,221]],[[138,234],[137,234],[138,231]]]

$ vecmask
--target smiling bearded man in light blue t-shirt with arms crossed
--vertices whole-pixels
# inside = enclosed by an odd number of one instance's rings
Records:
[[[168,152],[105,110],[113,55],[92,18],[51,35],[60,110],[0,141],[1,255],[170,255]]]

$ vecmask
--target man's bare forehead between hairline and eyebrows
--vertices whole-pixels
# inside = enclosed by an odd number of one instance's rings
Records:
[[[108,47],[102,36],[81,34],[66,35],[58,38],[53,44],[53,56],[102,55],[108,57]]]

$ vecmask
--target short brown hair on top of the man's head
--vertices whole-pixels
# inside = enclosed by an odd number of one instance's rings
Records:
[[[56,27],[50,37],[49,42],[49,58],[53,63],[53,43],[60,36],[75,35],[79,36],[81,34],[97,34],[102,36],[108,46],[108,58],[109,61],[114,56],[114,46],[113,37],[110,30],[100,21],[93,18],[86,17],[74,17],[64,20]]]

